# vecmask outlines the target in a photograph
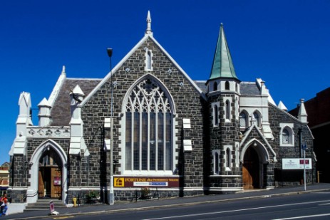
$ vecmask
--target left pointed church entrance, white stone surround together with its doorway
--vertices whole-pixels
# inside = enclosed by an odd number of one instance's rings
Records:
[[[66,153],[53,140],[47,140],[37,147],[30,161],[31,185],[26,201],[33,203],[44,197],[66,201],[66,163]]]

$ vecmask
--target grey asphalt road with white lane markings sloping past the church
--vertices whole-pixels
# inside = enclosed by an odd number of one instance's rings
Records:
[[[330,219],[330,192],[43,219]]]

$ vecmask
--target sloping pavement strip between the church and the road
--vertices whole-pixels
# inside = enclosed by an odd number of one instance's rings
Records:
[[[71,208],[61,208],[55,211],[59,212],[59,216],[66,215],[81,215],[86,213],[98,213],[98,212],[115,212],[123,210],[138,210],[138,209],[155,209],[158,206],[170,207],[170,206],[188,206],[198,203],[206,202],[219,202],[219,201],[229,201],[235,199],[252,199],[257,197],[276,197],[285,196],[289,194],[299,194],[308,192],[317,192],[330,190],[330,184],[320,183],[320,184],[310,184],[306,186],[306,191],[304,191],[304,186],[298,187],[284,187],[276,189],[260,189],[260,190],[245,190],[244,192],[238,192],[235,194],[217,194],[199,197],[182,197],[182,198],[170,198],[170,199],[159,199],[159,200],[148,200],[148,201],[125,201],[116,202],[114,205],[106,204],[84,204],[78,207]],[[1,219],[36,219],[42,216],[48,216],[49,210],[44,211],[25,211],[24,213],[11,214],[9,216],[1,216]]]

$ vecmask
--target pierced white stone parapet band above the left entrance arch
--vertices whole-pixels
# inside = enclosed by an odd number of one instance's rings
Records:
[[[70,127],[28,127],[26,137],[70,137]]]

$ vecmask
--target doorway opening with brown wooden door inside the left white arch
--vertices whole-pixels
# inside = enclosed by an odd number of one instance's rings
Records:
[[[57,152],[48,147],[38,165],[38,197],[60,199],[62,197],[63,164]]]

